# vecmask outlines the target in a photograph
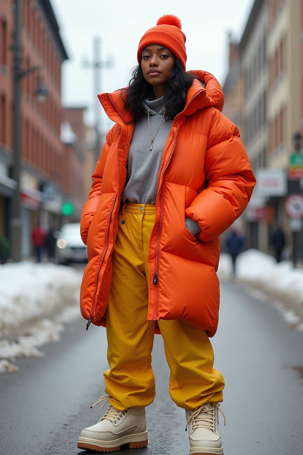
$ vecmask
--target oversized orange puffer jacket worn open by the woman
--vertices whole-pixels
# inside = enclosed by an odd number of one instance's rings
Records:
[[[174,119],[158,176],[155,224],[149,245],[149,321],[182,319],[213,336],[218,325],[219,235],[248,204],[255,178],[238,128],[220,111],[224,97],[211,74],[194,71],[184,110]],[[134,131],[123,90],[99,95],[115,125],[106,136],[81,217],[88,260],[81,285],[85,319],[105,325],[111,255]],[[185,217],[199,223],[194,237]],[[157,330],[156,330],[157,332]]]

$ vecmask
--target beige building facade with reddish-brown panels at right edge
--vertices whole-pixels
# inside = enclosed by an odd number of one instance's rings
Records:
[[[268,166],[288,168],[301,125],[300,0],[268,1]]]

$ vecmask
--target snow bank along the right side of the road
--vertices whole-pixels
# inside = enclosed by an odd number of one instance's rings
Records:
[[[223,253],[220,257],[219,277],[228,279],[231,273],[231,260]],[[303,269],[293,268],[293,264],[288,261],[277,263],[272,256],[249,249],[237,258],[236,278],[255,288],[253,292],[258,292],[256,298],[264,300],[262,293],[265,293],[271,299],[278,300],[273,303],[283,313],[288,324],[298,324],[303,319]]]

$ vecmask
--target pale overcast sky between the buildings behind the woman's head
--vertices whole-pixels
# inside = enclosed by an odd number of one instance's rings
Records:
[[[228,71],[228,31],[240,39],[254,0],[50,0],[69,56],[63,64],[62,101],[65,106],[88,106],[86,121],[94,115],[92,60],[94,37],[101,39],[101,60],[112,58],[111,69],[101,72],[99,91],[126,86],[141,36],[161,15],[174,14],[186,35],[187,70],[205,70],[224,84]],[[101,106],[100,106],[100,109]],[[102,129],[110,126],[101,113]]]

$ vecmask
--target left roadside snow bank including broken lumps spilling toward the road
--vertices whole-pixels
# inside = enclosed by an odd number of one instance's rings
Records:
[[[75,269],[52,263],[0,266],[0,373],[18,371],[8,360],[42,356],[37,348],[60,339],[80,315],[80,282]]]

